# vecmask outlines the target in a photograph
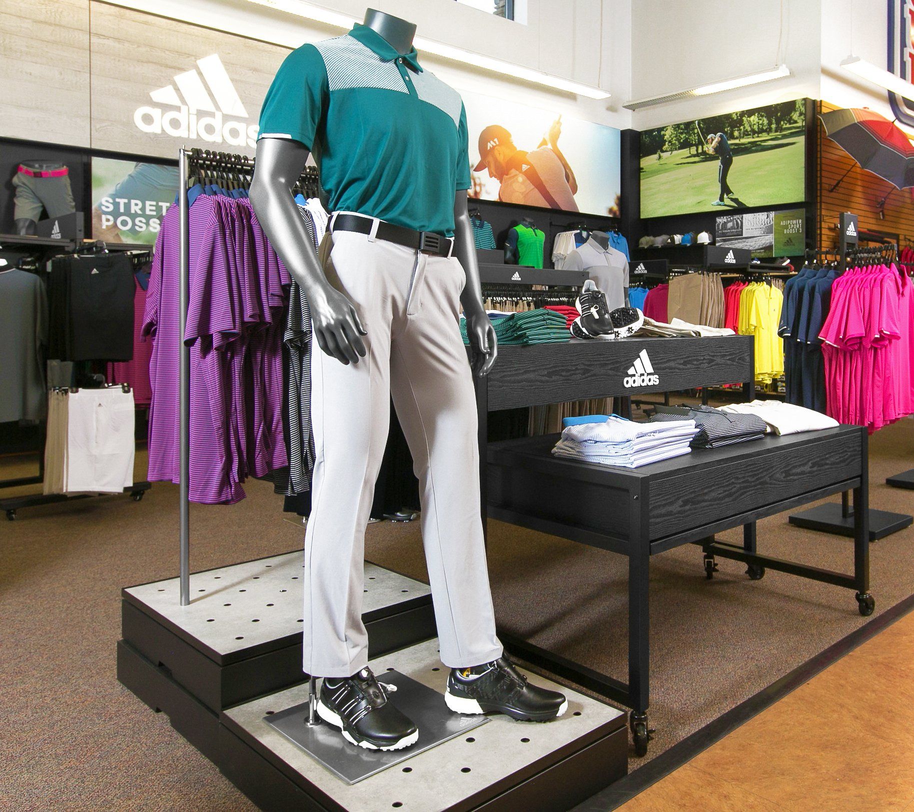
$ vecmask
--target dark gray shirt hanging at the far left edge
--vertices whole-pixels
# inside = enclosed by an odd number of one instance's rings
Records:
[[[46,410],[44,350],[48,300],[44,283],[27,271],[0,272],[0,422],[37,421]]]

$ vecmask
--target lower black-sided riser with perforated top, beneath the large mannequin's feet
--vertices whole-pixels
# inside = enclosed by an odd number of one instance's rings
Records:
[[[388,660],[403,670],[409,670],[412,662],[411,676],[442,691],[446,669],[431,670],[440,666],[436,646],[434,639],[410,646],[373,661],[372,667],[383,674]],[[415,672],[417,657],[424,676]],[[493,717],[482,728],[470,731],[467,738],[471,741],[461,735],[404,762],[409,778],[401,765],[395,765],[356,785],[345,785],[265,721],[266,710],[277,712],[302,702],[307,695],[306,684],[215,713],[178,685],[166,668],[157,667],[124,641],[118,644],[118,675],[150,708],[164,712],[175,731],[264,810],[293,806],[361,810],[389,808],[399,801],[407,808],[429,810],[523,808],[558,812],[627,772],[625,714],[568,689],[563,690],[569,696],[569,712],[560,720],[534,724]],[[535,744],[527,750],[531,742]],[[516,763],[504,764],[502,775],[489,784],[491,776],[483,774],[491,772],[493,765],[503,764],[505,758],[500,755],[508,751]],[[426,766],[427,762],[430,764]],[[441,764],[447,764],[457,776],[444,793],[452,797],[443,804],[439,782],[445,775]],[[462,772],[464,767],[469,767],[466,773]]]

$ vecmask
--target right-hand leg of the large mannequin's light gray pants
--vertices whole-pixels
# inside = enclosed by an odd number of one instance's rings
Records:
[[[480,520],[473,379],[457,326],[464,274],[456,259],[420,262],[412,315],[395,325],[391,394],[419,477],[441,662],[469,668],[501,657],[502,646]]]

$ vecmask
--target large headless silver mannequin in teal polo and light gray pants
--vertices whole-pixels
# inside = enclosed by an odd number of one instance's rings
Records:
[[[324,678],[324,721],[379,750],[418,739],[367,666],[361,617],[365,527],[391,397],[420,480],[441,660],[452,668],[448,707],[534,721],[567,708],[561,694],[529,685],[495,636],[472,376],[492,369],[497,348],[467,211],[465,112],[456,91],[420,65],[415,31],[369,9],[343,37],[292,51],[263,103],[250,187],[322,350],[312,365],[317,463],[303,668]],[[291,194],[312,149],[331,212],[316,257]]]

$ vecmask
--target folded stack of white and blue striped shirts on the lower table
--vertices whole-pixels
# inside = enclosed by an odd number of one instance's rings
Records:
[[[638,468],[689,454],[696,431],[695,421],[636,423],[613,414],[605,422],[568,426],[552,453],[585,463]]]

